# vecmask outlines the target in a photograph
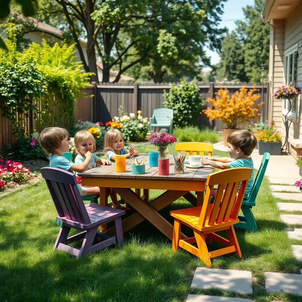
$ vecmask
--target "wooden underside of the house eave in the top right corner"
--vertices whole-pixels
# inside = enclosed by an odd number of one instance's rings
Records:
[[[262,21],[268,19],[285,19],[300,0],[266,0],[261,13]]]

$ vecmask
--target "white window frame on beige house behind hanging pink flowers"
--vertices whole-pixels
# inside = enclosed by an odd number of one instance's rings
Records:
[[[297,52],[297,61],[299,58],[299,52],[298,52],[298,43],[295,45],[289,47],[287,50],[284,51],[284,68],[283,68],[283,84],[288,85],[289,82],[294,83],[293,79],[295,77],[294,75],[294,54]],[[291,55],[293,56],[292,62],[290,62],[290,57]],[[289,72],[289,67],[292,63],[291,66],[291,73]],[[286,74],[288,71],[288,74]],[[289,75],[291,74],[291,79],[289,79]],[[296,74],[297,78],[297,74]],[[294,99],[291,99],[291,105],[293,106],[293,101]],[[293,107],[291,108],[293,109]],[[285,99],[282,101],[282,114],[285,116],[287,113],[287,117],[292,118],[292,119],[297,119],[297,111],[298,111],[298,102],[296,100],[296,105],[295,105],[295,111],[289,111],[288,112],[288,99]]]

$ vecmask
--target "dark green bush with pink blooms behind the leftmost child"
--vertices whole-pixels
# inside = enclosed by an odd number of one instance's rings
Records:
[[[8,146],[8,154],[12,159],[30,160],[30,159],[47,159],[47,155],[40,147],[38,140],[24,137],[13,140]]]

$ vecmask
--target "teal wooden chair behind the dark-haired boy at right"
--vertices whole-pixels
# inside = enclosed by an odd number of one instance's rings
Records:
[[[264,153],[261,160],[261,165],[258,170],[257,176],[255,178],[253,187],[247,199],[243,199],[241,210],[244,216],[238,216],[240,222],[236,223],[234,226],[246,230],[250,230],[252,232],[258,232],[258,227],[256,224],[256,220],[252,213],[252,207],[256,205],[256,197],[261,186],[263,176],[268,164],[270,154]]]

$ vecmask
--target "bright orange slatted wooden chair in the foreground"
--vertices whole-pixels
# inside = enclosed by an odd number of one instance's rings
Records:
[[[198,256],[206,265],[211,266],[211,258],[234,252],[242,257],[234,224],[239,222],[238,214],[246,191],[248,180],[252,176],[252,169],[232,168],[215,172],[207,177],[205,199],[201,207],[171,211],[174,217],[172,249],[179,247]],[[237,194],[239,184],[240,190]],[[210,203],[214,185],[218,185],[214,203]],[[225,189],[225,190],[224,190]],[[194,237],[181,239],[181,225],[185,224],[194,231]],[[226,231],[228,239],[216,234]],[[212,240],[226,246],[209,252],[207,244]],[[197,243],[198,248],[192,245]]]

